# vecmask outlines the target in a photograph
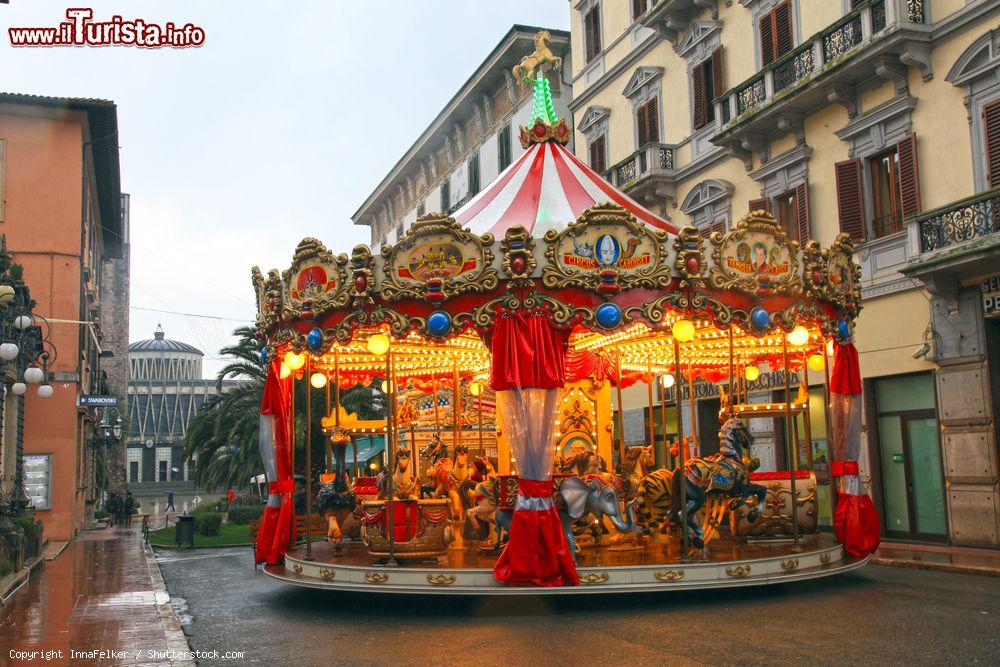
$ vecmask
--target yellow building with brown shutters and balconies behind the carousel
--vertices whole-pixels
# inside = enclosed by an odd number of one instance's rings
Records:
[[[861,465],[886,535],[1000,546],[1000,0],[569,10],[577,154],[678,226],[709,233],[764,208],[792,238],[850,234]],[[765,370],[756,400],[778,380]],[[809,380],[827,480],[822,378]],[[707,453],[718,398],[693,389],[684,415]],[[626,392],[627,440],[658,414],[646,401],[645,387]],[[783,467],[780,425],[752,422],[765,469]]]

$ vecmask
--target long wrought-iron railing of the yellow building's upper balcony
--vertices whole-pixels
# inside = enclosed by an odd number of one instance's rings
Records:
[[[896,23],[923,23],[925,0],[867,0],[715,100],[723,125],[742,120],[840,64]]]

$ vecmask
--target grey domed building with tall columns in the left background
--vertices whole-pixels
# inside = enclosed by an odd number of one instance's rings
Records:
[[[128,346],[128,410],[125,479],[129,484],[190,481],[184,460],[188,425],[211,397],[215,380],[202,378],[204,353],[168,339],[162,327],[153,337]],[[222,389],[238,384],[225,380]]]

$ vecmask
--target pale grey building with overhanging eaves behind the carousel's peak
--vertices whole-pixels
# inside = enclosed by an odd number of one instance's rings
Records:
[[[563,59],[549,79],[556,111],[568,118],[569,33],[515,25],[352,216],[371,228],[374,250],[425,213],[457,210],[524,153],[518,128],[529,124],[532,89],[512,68],[535,51],[539,32]]]

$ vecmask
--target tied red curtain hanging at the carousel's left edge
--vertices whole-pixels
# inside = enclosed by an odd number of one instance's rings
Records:
[[[279,362],[275,360],[268,368],[260,404],[261,458],[270,483],[257,532],[255,558],[258,563],[268,565],[276,565],[285,557],[295,521],[289,414],[292,386],[290,379],[280,378],[278,370]]]

